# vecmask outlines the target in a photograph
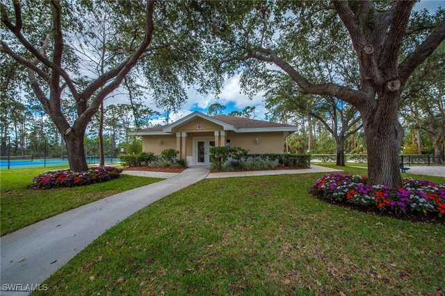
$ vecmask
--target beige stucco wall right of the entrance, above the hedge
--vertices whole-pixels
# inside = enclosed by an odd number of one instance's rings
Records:
[[[255,139],[259,139],[256,143]],[[284,153],[284,132],[227,132],[231,145],[248,149],[249,153]]]

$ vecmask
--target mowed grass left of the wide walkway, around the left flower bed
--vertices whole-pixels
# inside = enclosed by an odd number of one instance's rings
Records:
[[[60,167],[62,168],[62,167]],[[57,168],[50,168],[51,170]],[[122,177],[104,183],[72,188],[32,190],[33,177],[48,168],[18,168],[0,172],[0,229],[1,235],[55,216],[83,204],[161,179]]]

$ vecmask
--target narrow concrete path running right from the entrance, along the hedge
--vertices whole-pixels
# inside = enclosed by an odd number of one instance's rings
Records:
[[[337,168],[327,168],[325,166],[317,166],[316,164],[311,164],[311,168],[302,168],[300,170],[211,173],[207,176],[207,179],[220,178],[220,177],[249,177],[249,176],[264,176],[264,175],[308,174],[308,173],[330,173],[330,172],[341,172],[341,170],[337,170]]]

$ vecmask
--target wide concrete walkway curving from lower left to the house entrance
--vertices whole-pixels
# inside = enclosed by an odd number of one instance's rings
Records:
[[[0,287],[41,284],[106,229],[208,174],[209,168],[188,168],[167,180],[97,200],[1,237]],[[26,294],[1,291],[1,295]]]

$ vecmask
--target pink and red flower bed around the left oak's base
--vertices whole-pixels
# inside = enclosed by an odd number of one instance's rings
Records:
[[[114,168],[113,166],[95,166],[84,172],[48,171],[35,176],[32,187],[35,189],[50,189],[87,185],[115,179],[119,177],[120,173],[122,173],[122,168]]]

